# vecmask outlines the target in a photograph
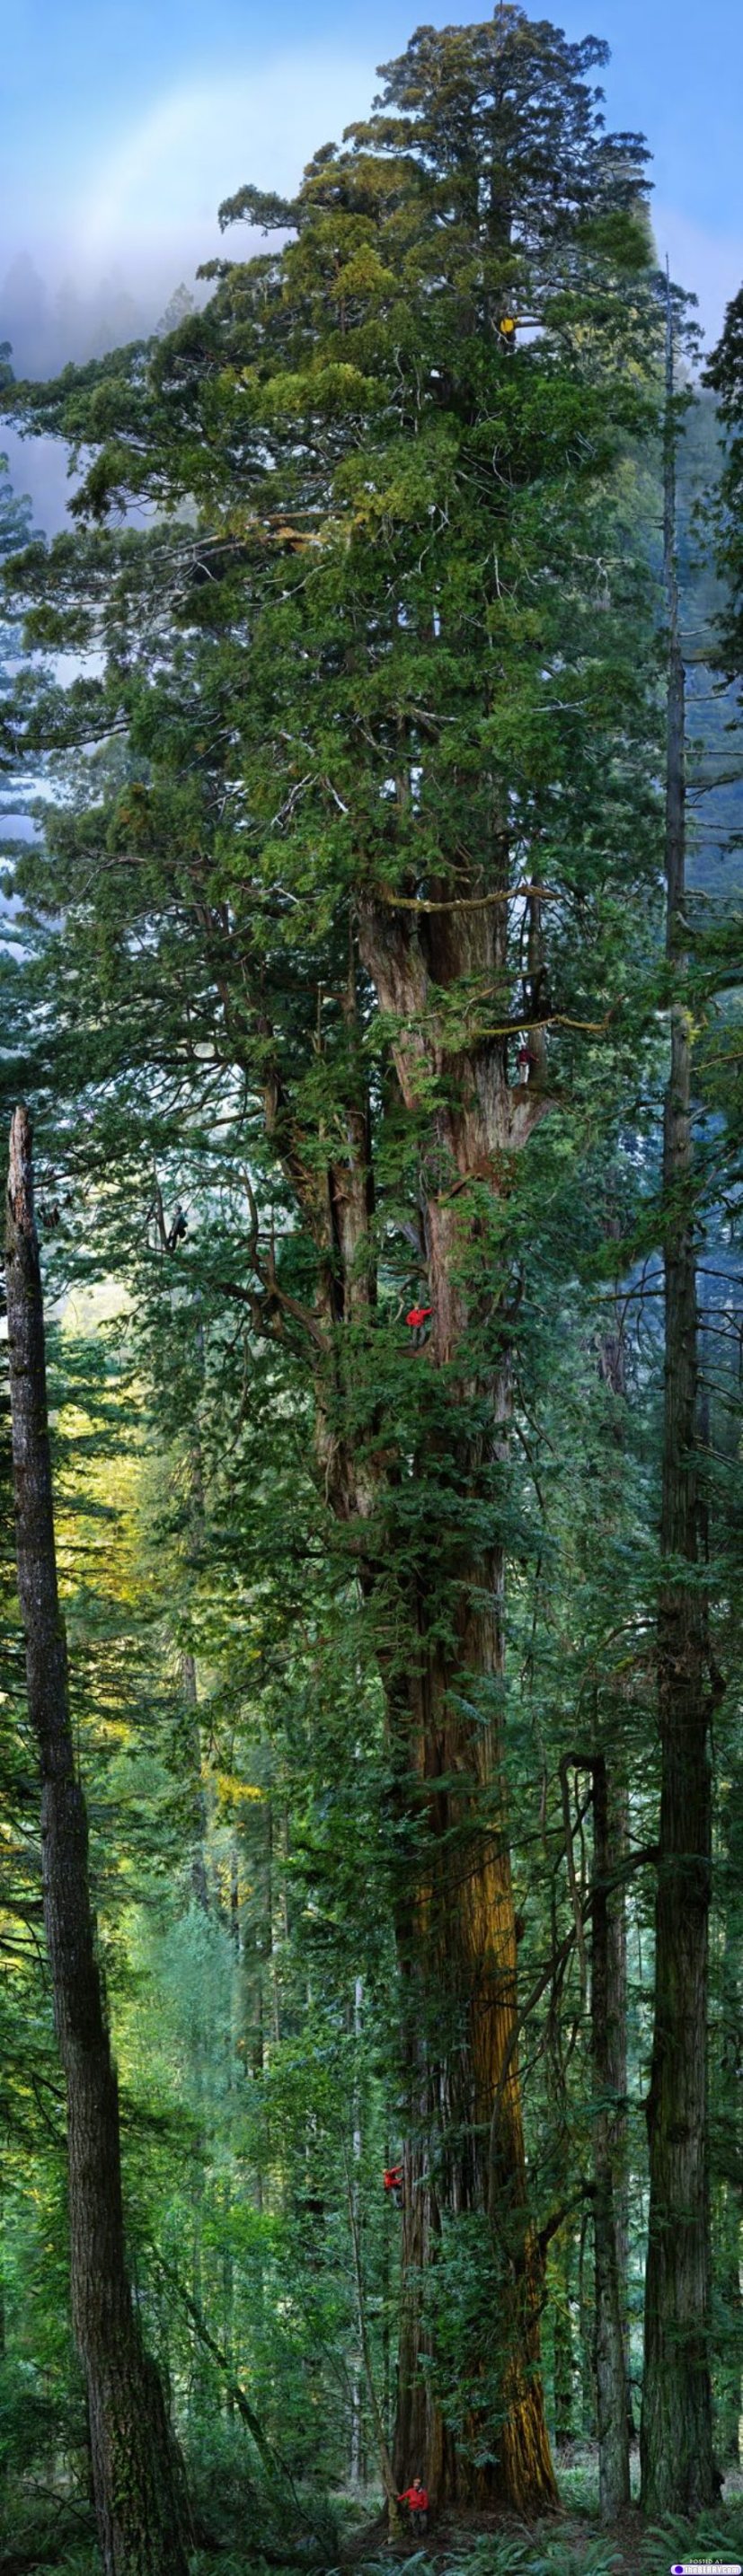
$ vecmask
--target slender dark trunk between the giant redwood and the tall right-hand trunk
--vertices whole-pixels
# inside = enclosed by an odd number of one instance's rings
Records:
[[[611,2056],[617,2056],[617,1991],[611,1994],[609,1906],[609,1790],[604,1754],[593,1757],[593,1945],[591,1945],[591,2053],[593,2053],[593,2246],[596,2246],[596,2416],[599,2504],[614,2522],[629,2504],[627,2362],[617,2262],[617,2202],[611,2151]],[[617,1899],[614,1899],[617,1909]],[[614,2043],[614,2048],[611,2048]]]

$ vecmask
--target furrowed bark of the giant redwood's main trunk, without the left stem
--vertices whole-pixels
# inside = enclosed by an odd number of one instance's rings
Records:
[[[506,868],[506,850],[500,853]],[[431,1352],[423,1365],[451,1373],[467,1396],[459,1345],[470,1306],[462,1255],[477,1216],[462,1190],[503,1188],[508,1162],[550,1105],[537,1084],[508,1084],[506,1041],[451,1056],[436,1030],[431,994],[482,974],[498,984],[506,963],[506,907],[441,909],[415,930],[366,907],[359,945],[382,1010],[395,1023],[392,1054],[408,1113],[426,1079],[446,1072],[449,1105],[436,1110],[423,1157],[421,1224]],[[537,1046],[534,1046],[537,1066]],[[542,1069],[542,1056],[539,1056]],[[464,1213],[467,1208],[467,1213]],[[508,1358],[490,1376],[490,1458],[506,1453]],[[459,1443],[462,1489],[477,1497],[485,1450]],[[397,1909],[402,1989],[408,1991],[410,2143],[402,2190],[402,2321],[395,2476],[423,2476],[433,2499],[500,2499],[519,2512],[555,2504],[555,2473],[539,2383],[542,2269],[526,2205],[516,2022],[516,1914],[503,1780],[503,1551],[459,1551],[454,1643],[436,1636],[433,1561],[418,1574],[408,1690],[390,1690],[392,1747],[418,1783],[423,1844],[410,1901]],[[475,1710],[472,1710],[475,1703]],[[503,2069],[506,2079],[503,2079]],[[503,2079],[503,2081],[500,2081]],[[490,2136],[493,2102],[498,2128]],[[423,2143],[426,2141],[426,2143]],[[472,2411],[454,2442],[431,2385],[431,2329],[423,2285],[444,2218],[490,2218],[498,2313],[482,2367],[498,2401]],[[428,2370],[426,2370],[428,2362]],[[475,2367],[477,2375],[477,2367]],[[490,2458],[488,2458],[490,2452]],[[477,2465],[475,2455],[485,2455]]]

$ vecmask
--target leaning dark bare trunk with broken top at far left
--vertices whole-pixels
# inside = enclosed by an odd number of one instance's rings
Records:
[[[186,2499],[155,2362],[124,2259],[119,2092],[88,1883],[88,1816],[67,1695],[46,1427],[44,1306],[31,1121],[15,1110],[8,1172],[8,1342],[18,1597],[41,1770],[44,1922],[67,2084],[72,2326],[88,2380],[106,2576],[188,2576]]]

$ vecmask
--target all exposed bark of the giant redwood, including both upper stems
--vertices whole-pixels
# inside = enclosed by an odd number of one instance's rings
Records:
[[[348,963],[348,1074],[346,1151],[333,1151],[325,1177],[307,1175],[302,1136],[279,1072],[266,1082],[266,1128],[297,1190],[320,1252],[317,1321],[317,1466],[335,1520],[353,1530],[359,1582],[372,1623],[377,1618],[382,1561],[374,1528],[384,1520],[390,1427],[374,1440],[348,1435],[353,1417],[353,1340],[374,1311],[374,1175],[366,1079],[359,1036],[356,966],[372,979],[390,1015],[392,1059],[402,1108],[421,1123],[421,1270],[431,1306],[431,1345],[410,1365],[446,1370],[449,1461],[457,1448],[459,1492],[482,1492],[485,1445],[457,1430],[457,1401],[467,1396],[462,1340],[470,1327],[464,1280],[467,1247],[477,1234],[472,1185],[508,1188],[513,1157],[550,1108],[544,1095],[544,1038],[534,1036],[531,1082],[508,1082],[506,1038],[472,1041],[451,1051],[436,994],[480,979],[490,989],[506,971],[506,840],[495,848],[503,904],[467,902],[402,922],[387,904],[359,907],[359,961]],[[433,889],[436,891],[436,889]],[[441,886],[446,896],[446,886]],[[531,925],[534,927],[534,925]],[[529,943],[534,987],[542,930]],[[542,971],[542,963],[539,963]],[[529,1007],[526,1018],[529,1018]],[[441,1079],[444,1077],[444,1079]],[[446,1105],[431,1110],[431,1082]],[[428,1105],[426,1105],[428,1095]],[[338,1131],[335,1131],[338,1133]],[[464,1262],[464,1270],[462,1270]],[[490,1303],[495,1298],[495,1285]],[[503,1309],[500,1309],[503,1314]],[[506,1443],[508,1329],[503,1363],[490,1370],[490,1458]],[[351,1355],[348,1355],[351,1352]],[[439,1437],[439,1435],[433,1435]],[[457,1504],[451,1502],[451,1515]],[[369,1530],[369,1546],[366,1533]],[[410,1651],[400,1680],[400,1654],[379,1643],[390,1749],[400,1770],[400,1832],[413,1824],[405,1893],[397,1899],[397,1955],[405,2017],[408,2143],[402,2192],[402,2313],[397,2367],[395,2478],[423,2476],[436,2504],[500,2499],[519,2512],[555,2504],[555,2473],[539,2383],[542,2264],[526,2208],[516,2022],[516,1919],[503,1785],[503,1553],[464,1551],[454,1528],[441,1530],[454,1564],[454,1638],[436,1641],[441,1556],[418,1564],[405,1595]],[[382,1615],[384,1628],[384,1615]],[[477,1713],[475,1713],[477,1710]],[[500,2084],[506,2069],[506,2079]],[[490,2141],[498,2097],[498,2136]],[[462,2210],[490,2215],[500,2272],[498,2311],[488,2321],[482,2372],[500,2378],[498,2403],[488,2396],[472,2414],[464,2442],[454,2442],[431,2385],[431,2324],[426,2282],[441,2249],[441,2226]],[[498,2367],[495,2367],[498,2365]],[[475,2452],[488,2465],[475,2465]]]

